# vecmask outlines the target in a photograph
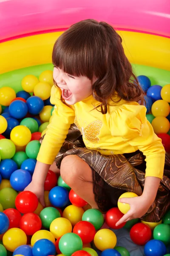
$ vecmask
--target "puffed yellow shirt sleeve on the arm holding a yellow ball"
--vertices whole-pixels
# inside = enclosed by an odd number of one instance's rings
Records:
[[[165,150],[161,139],[153,131],[146,118],[146,108],[141,105],[122,105],[115,111],[112,119],[116,123],[115,133],[146,156],[145,177],[162,179],[164,172]],[[115,121],[116,120],[116,121]],[[113,131],[114,134],[114,131]]]

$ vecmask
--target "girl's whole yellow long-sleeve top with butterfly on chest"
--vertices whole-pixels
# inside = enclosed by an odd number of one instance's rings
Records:
[[[162,179],[165,151],[147,121],[146,108],[136,102],[110,102],[108,112],[94,109],[100,102],[93,96],[67,106],[60,100],[61,90],[51,89],[51,103],[55,105],[51,123],[40,147],[37,160],[52,164],[64,142],[70,125],[75,122],[80,129],[86,148],[98,150],[103,155],[132,153],[138,149],[146,156],[146,176]],[[116,96],[116,99],[118,96]]]

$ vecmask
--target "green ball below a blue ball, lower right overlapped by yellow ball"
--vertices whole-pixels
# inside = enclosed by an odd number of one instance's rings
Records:
[[[46,207],[40,212],[42,226],[45,228],[50,228],[51,222],[60,217],[59,211],[54,207]]]

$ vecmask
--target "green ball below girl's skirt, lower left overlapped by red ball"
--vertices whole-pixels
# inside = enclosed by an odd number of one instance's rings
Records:
[[[88,209],[82,215],[82,221],[88,221],[94,225],[96,230],[102,227],[104,223],[104,218],[102,212],[97,209]]]

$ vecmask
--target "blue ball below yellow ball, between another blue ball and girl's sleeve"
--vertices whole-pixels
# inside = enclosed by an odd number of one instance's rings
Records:
[[[44,108],[44,102],[40,97],[31,96],[26,102],[28,106],[28,112],[32,115],[38,115]]]

